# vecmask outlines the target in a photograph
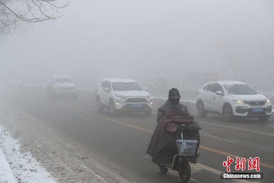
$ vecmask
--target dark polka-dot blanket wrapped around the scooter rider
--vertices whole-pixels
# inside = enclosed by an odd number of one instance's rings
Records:
[[[152,134],[147,154],[152,157],[152,162],[156,164],[172,164],[173,158],[178,154],[176,140],[181,131],[180,125],[186,124],[187,130],[184,132],[184,139],[197,140],[195,156],[189,157],[191,163],[196,163],[197,151],[200,143],[199,125],[194,121],[193,116],[188,115],[183,109],[167,110]],[[176,128],[176,132],[170,132]]]

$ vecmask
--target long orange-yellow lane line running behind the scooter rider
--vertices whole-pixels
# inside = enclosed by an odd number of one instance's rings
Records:
[[[152,131],[146,130],[144,128],[136,127],[134,125],[129,125],[129,124],[126,124],[126,123],[123,123],[121,121],[114,120],[114,119],[111,119],[111,118],[108,118],[108,117],[104,117],[104,116],[101,116],[101,115],[93,114],[93,113],[86,112],[86,111],[83,111],[83,110],[79,110],[79,109],[76,109],[76,108],[73,108],[73,107],[64,106],[64,105],[61,105],[61,104],[58,104],[58,103],[56,103],[56,104],[60,105],[62,107],[68,108],[68,109],[76,110],[76,111],[79,111],[79,112],[82,112],[82,113],[85,113],[85,114],[89,114],[89,115],[100,117],[100,118],[103,118],[103,119],[106,119],[106,120],[109,120],[109,121],[113,121],[113,122],[115,122],[117,124],[124,125],[124,126],[130,127],[130,128],[138,129],[138,130],[141,130],[141,131],[144,131],[144,132],[148,132],[148,133],[151,133],[151,134],[153,133]],[[243,157],[239,157],[239,156],[236,156],[236,155],[233,155],[233,154],[226,153],[226,152],[221,151],[221,150],[213,149],[213,148],[210,148],[210,147],[205,147],[205,146],[202,146],[202,145],[200,145],[200,148],[212,151],[212,152],[220,154],[220,155],[230,156],[230,157],[233,157],[233,158],[236,158],[236,157],[241,158],[241,159],[243,158]],[[245,158],[245,159],[247,161],[249,160],[249,158]],[[274,170],[274,166],[273,165],[269,165],[269,164],[261,163],[261,162],[260,162],[260,165],[264,166],[266,168],[270,168],[270,169]]]

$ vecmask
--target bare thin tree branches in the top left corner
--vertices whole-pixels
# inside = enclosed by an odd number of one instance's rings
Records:
[[[70,0],[0,0],[0,38],[22,22],[30,24],[62,17],[59,10]]]

